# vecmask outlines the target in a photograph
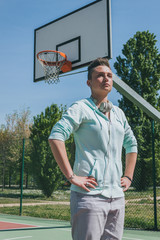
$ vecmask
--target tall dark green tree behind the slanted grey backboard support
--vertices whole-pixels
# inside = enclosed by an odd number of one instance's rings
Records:
[[[140,94],[152,106],[160,110],[160,54],[156,47],[156,36],[149,31],[137,32],[123,45],[114,67],[117,75]],[[135,186],[139,190],[150,186],[152,182],[152,142],[151,122],[148,116],[126,97],[122,96],[119,106],[123,109],[138,140],[139,154]],[[159,138],[158,124],[155,128]],[[156,156],[158,156],[158,141]],[[157,152],[158,151],[158,152]],[[157,159],[158,161],[158,159]],[[158,166],[159,164],[157,164]],[[157,169],[158,170],[158,169]],[[160,170],[160,169],[159,169]],[[159,171],[158,170],[158,171]]]

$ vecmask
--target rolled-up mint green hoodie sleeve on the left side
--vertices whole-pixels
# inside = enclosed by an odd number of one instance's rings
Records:
[[[83,119],[82,107],[74,103],[52,128],[49,139],[66,141],[72,133],[77,131]]]

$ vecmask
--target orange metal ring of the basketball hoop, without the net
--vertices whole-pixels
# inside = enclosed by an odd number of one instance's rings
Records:
[[[46,61],[46,60],[43,60],[42,58],[39,57],[39,55],[41,53],[58,53],[60,54],[62,57],[64,57],[63,60],[61,61]],[[49,65],[49,66],[56,66],[56,65],[59,65],[60,63],[65,63],[67,61],[67,55],[63,52],[60,52],[60,51],[55,51],[55,50],[43,50],[43,51],[40,51],[37,53],[37,59],[44,65]]]

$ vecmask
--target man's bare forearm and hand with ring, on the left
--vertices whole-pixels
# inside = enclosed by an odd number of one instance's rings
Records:
[[[80,176],[74,175],[70,162],[67,157],[65,143],[63,141],[56,140],[56,139],[49,139],[49,143],[51,146],[53,156],[59,168],[61,169],[65,177],[72,184],[77,185],[88,192],[90,192],[90,190],[86,187],[86,184],[88,187],[91,187],[91,188],[95,188],[94,185],[97,186],[97,183],[93,177],[87,177],[87,176],[80,177]]]

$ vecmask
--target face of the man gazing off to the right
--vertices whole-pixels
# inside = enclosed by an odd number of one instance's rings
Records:
[[[92,79],[87,80],[92,94],[108,94],[112,90],[113,80],[112,71],[107,66],[98,66],[94,68]]]

